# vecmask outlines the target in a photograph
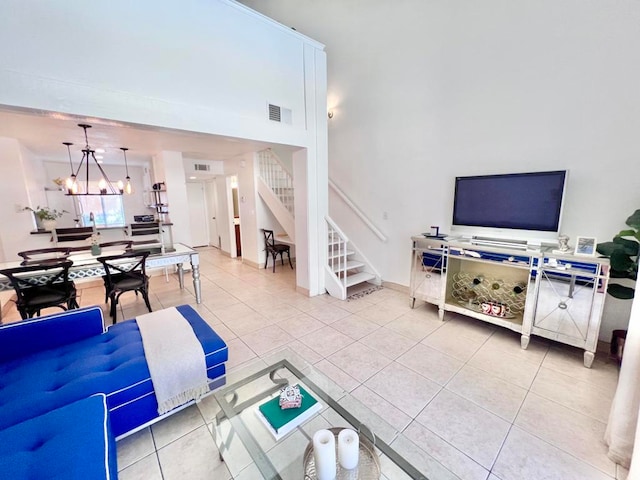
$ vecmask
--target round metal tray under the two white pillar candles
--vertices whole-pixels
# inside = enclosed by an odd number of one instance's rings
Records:
[[[345,470],[338,461],[338,434],[344,429],[329,428],[328,430],[336,437],[336,480],[379,480],[380,460],[376,455],[373,444],[362,433],[359,434],[360,455],[358,457],[358,466],[353,470]],[[304,451],[303,462],[305,480],[317,480],[316,463],[313,458],[313,441],[309,442]]]

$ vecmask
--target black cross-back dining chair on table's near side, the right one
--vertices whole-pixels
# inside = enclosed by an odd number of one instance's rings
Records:
[[[106,296],[111,299],[110,314],[114,323],[118,300],[120,295],[125,292],[133,291],[136,292],[136,295],[140,292],[145,305],[151,312],[149,277],[146,270],[148,256],[148,251],[134,251],[121,255],[98,257],[98,261],[104,266]]]

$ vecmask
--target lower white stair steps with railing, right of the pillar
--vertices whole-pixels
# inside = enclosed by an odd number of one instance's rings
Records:
[[[370,267],[347,236],[330,218],[327,222],[327,265],[325,266],[325,288],[329,295],[346,300],[349,288],[364,282],[380,285],[380,275]]]

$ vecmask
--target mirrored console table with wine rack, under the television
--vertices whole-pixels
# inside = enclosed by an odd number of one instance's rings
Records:
[[[509,328],[527,348],[531,335],[584,349],[591,367],[609,280],[607,258],[520,250],[415,236],[411,306],[437,305]],[[491,308],[493,307],[493,311]]]

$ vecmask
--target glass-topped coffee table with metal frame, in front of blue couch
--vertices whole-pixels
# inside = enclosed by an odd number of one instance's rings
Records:
[[[256,411],[287,384],[302,386],[322,409],[276,441]],[[378,476],[377,469],[359,468],[341,472],[338,480],[458,478],[295,352],[284,350],[231,371],[227,386],[212,396],[218,404],[213,434],[234,479],[315,480],[313,474],[307,475],[307,447],[317,430],[338,427],[358,431],[363,442],[373,445],[371,456],[376,456],[373,461],[380,471]]]

